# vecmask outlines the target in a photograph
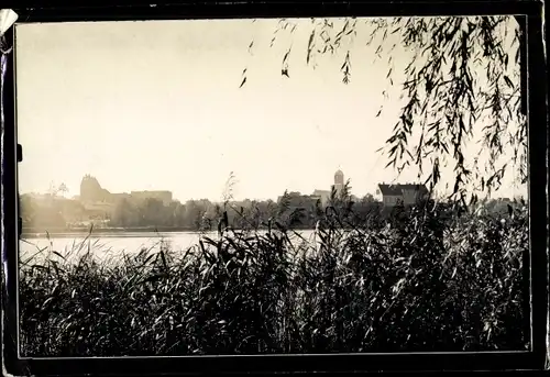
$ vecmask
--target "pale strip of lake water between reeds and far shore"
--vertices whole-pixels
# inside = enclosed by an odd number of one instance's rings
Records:
[[[305,240],[314,242],[314,231],[298,232]],[[217,232],[202,233],[212,240],[217,240]],[[98,259],[117,258],[123,252],[125,254],[136,254],[142,248],[158,251],[161,245],[167,245],[172,250],[187,250],[198,244],[201,233],[198,232],[128,232],[96,234],[87,237],[87,234],[56,234],[47,237],[23,237],[19,242],[21,260],[34,256],[36,260],[51,255],[48,252],[55,251],[65,255],[70,250],[81,250],[86,252],[88,247],[94,251],[94,256]],[[296,236],[298,240],[299,237]]]

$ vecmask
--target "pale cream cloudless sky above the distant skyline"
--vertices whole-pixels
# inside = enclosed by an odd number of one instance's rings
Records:
[[[278,20],[19,24],[20,191],[64,182],[75,196],[86,174],[111,192],[170,190],[180,201],[220,200],[231,173],[234,199],[330,189],[337,169],[358,196],[417,181],[416,169],[396,180],[376,152],[403,99],[398,74],[392,85],[376,45],[365,45],[371,26],[360,23],[353,43],[314,68],[311,21],[293,22],[294,36],[277,33],[273,47]],[[395,71],[410,57],[397,48]],[[502,196],[525,191],[512,178],[505,186]]]

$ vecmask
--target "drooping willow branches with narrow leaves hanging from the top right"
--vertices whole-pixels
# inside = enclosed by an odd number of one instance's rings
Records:
[[[517,20],[514,16],[314,19],[307,26],[311,32],[302,53],[307,64],[315,68],[316,56],[336,54],[345,48],[344,42],[351,45],[364,36],[367,45],[377,45],[377,58],[385,54],[389,67],[387,79],[393,85],[392,52],[403,46],[410,55],[400,82],[407,102],[393,135],[380,152],[386,154],[387,166],[398,173],[410,166],[418,168],[419,177],[424,171],[429,173],[426,184],[430,188],[440,181],[441,167],[453,164],[452,197],[465,202],[466,197],[476,199],[475,195],[466,195],[468,185],[490,193],[501,186],[505,171],[513,165],[519,166],[516,178],[522,184],[527,181],[527,129],[519,79],[521,26]],[[369,25],[370,33],[359,35],[361,23]],[[297,26],[296,21],[280,20],[272,45],[280,34],[293,34]],[[397,42],[389,43],[389,36],[397,37]],[[288,66],[292,53],[296,52],[288,47],[282,62],[282,75],[287,77],[292,77]],[[341,73],[343,84],[350,82],[350,49]],[[484,125],[484,121],[488,124]],[[476,164],[479,154],[465,153],[465,142],[480,129],[480,151],[490,155],[486,166]],[[420,133],[416,145],[411,145],[414,130]],[[502,162],[506,147],[514,151],[513,157]]]

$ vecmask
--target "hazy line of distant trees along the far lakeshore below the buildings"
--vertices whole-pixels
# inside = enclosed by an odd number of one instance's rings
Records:
[[[378,229],[388,220],[398,225],[399,219],[408,215],[404,206],[384,207],[372,195],[352,198],[346,185],[342,192],[331,192],[327,202],[320,199],[285,191],[277,200],[224,200],[212,202],[208,199],[173,201],[165,206],[161,200],[150,198],[143,201],[122,199],[114,209],[102,214],[87,212],[76,200],[51,200],[44,203],[23,196],[20,215],[25,229],[40,231],[64,230],[78,226],[75,219],[102,220],[102,226],[123,229],[179,229],[186,231],[216,231],[221,219],[233,229],[293,228],[315,229],[327,221],[345,228],[349,224]],[[484,203],[490,212],[506,212],[506,203],[492,200]],[[453,213],[452,202],[438,202],[441,219]],[[332,219],[332,220],[330,220]],[[75,226],[75,224],[77,224]],[[89,224],[88,224],[89,226]]]

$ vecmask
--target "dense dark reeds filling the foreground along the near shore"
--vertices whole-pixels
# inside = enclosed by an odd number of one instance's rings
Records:
[[[417,206],[359,221],[329,207],[315,240],[292,222],[187,251],[20,263],[26,356],[526,350],[528,215]]]

